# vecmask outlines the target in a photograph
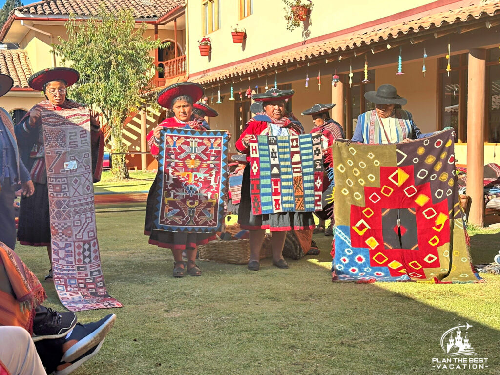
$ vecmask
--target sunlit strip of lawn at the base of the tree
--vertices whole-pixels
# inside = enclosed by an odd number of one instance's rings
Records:
[[[130,178],[116,181],[109,170],[102,171],[100,181],[94,183],[94,192],[135,192],[148,191],[155,172],[130,170]]]

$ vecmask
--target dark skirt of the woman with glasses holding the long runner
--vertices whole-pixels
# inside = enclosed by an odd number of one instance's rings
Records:
[[[34,193],[22,197],[19,207],[17,239],[21,245],[50,245],[50,216],[46,183],[33,182]]]

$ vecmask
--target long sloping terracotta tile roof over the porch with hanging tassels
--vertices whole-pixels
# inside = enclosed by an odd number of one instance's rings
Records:
[[[491,16],[500,12],[500,0],[471,0],[466,6],[454,9],[416,16],[414,19],[406,19],[398,24],[382,24],[370,29],[347,33],[331,39],[311,43],[303,47],[293,48],[284,52],[274,53],[263,58],[254,58],[251,61],[241,63],[216,71],[210,71],[190,79],[201,84],[214,82],[218,79],[226,79],[238,75],[249,74],[258,70],[264,70],[287,64],[293,61],[301,61],[306,58],[328,54],[332,52],[353,49],[361,45],[369,45],[380,40],[395,38],[401,35],[417,33],[431,27],[473,20],[481,16]],[[391,22],[393,23],[393,22]]]

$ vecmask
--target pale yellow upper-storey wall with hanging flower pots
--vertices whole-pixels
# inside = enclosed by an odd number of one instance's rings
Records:
[[[310,15],[312,25],[307,28],[307,38],[343,30],[433,1],[385,0],[383,6],[380,2],[366,0],[313,2],[314,8]],[[302,26],[293,31],[286,29],[282,1],[253,0],[253,14],[243,19],[239,19],[239,3],[236,0],[220,1],[221,26],[207,35],[212,40],[212,52],[211,56],[203,57],[199,54],[196,42],[204,35],[201,1],[187,1],[191,74],[304,40]],[[246,29],[247,38],[243,45],[232,42],[231,31],[236,24]]]

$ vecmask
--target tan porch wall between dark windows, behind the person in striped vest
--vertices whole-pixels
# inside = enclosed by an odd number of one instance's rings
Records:
[[[375,69],[376,87],[381,84],[392,84],[397,93],[408,102],[403,109],[413,115],[416,126],[428,133],[437,129],[437,59],[425,59],[425,77],[422,73],[422,62],[403,63],[404,74],[396,75],[397,65],[377,67]]]

